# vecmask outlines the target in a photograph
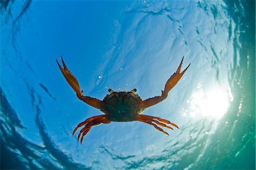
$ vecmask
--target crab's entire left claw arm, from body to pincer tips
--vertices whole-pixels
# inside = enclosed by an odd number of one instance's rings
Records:
[[[64,63],[62,56],[60,57],[63,68],[60,66],[59,62],[56,59],[57,64],[59,65],[60,71],[61,73],[63,73],[63,76],[67,80],[68,84],[71,85],[73,90],[75,90],[77,97],[90,106],[96,107],[97,109],[102,109],[104,107],[104,102],[97,98],[83,96],[82,91],[80,90],[79,82],[77,81],[76,77],[71,73],[71,71],[69,71],[69,69],[67,68],[67,65]]]

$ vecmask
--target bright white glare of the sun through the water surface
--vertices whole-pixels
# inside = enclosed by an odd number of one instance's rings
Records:
[[[210,119],[220,119],[228,111],[229,101],[232,101],[229,89],[220,87],[204,92],[202,85],[197,86],[197,92],[192,94],[189,110],[183,110],[183,115],[199,117],[200,115]]]

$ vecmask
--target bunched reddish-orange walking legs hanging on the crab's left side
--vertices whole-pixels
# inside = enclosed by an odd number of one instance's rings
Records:
[[[82,140],[84,140],[84,136],[90,131],[90,128],[92,128],[92,126],[100,125],[101,123],[110,123],[109,119],[106,118],[106,115],[98,115],[98,116],[95,116],[92,118],[88,118],[84,122],[81,122],[81,123],[79,123],[79,125],[77,125],[77,127],[73,131],[73,135],[77,131],[77,128],[85,125],[80,130],[79,135],[77,136],[77,140],[79,140],[80,136],[82,135],[82,137],[81,137],[81,144],[82,144]]]

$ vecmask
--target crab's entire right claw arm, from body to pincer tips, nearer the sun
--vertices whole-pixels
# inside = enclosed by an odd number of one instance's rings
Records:
[[[164,86],[164,90],[162,90],[162,95],[145,99],[144,101],[142,101],[139,104],[140,109],[146,109],[147,107],[151,107],[153,105],[156,105],[157,103],[162,102],[164,99],[166,99],[170,90],[177,84],[177,82],[180,80],[180,78],[183,76],[183,74],[187,71],[187,69],[190,65],[189,64],[188,67],[185,68],[184,71],[180,73],[180,69],[181,69],[181,65],[183,63],[183,59],[184,59],[184,57],[182,58],[182,60],[180,62],[180,65],[177,68],[177,71],[174,74],[172,74],[172,76],[167,80],[166,86]]]

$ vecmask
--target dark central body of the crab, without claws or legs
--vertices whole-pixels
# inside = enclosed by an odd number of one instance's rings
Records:
[[[113,122],[137,121],[137,115],[143,111],[139,109],[141,101],[142,99],[137,94],[114,92],[104,98],[105,108],[101,111]]]

